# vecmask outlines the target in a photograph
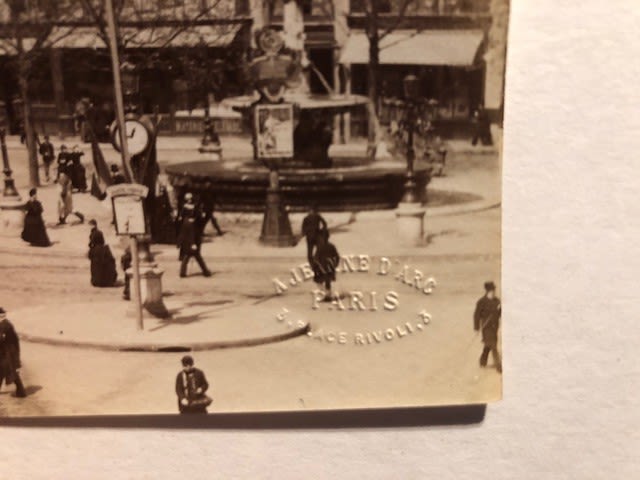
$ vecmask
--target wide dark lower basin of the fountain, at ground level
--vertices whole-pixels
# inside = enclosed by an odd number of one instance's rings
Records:
[[[405,165],[397,161],[355,163],[344,159],[334,162],[332,168],[280,170],[285,205],[293,212],[306,211],[312,204],[322,211],[396,208],[404,193]],[[269,170],[260,164],[246,159],[193,161],[168,165],[165,171],[179,196],[187,191],[208,193],[215,196],[220,211],[264,211]],[[430,167],[418,163],[415,177],[422,201],[426,201]]]

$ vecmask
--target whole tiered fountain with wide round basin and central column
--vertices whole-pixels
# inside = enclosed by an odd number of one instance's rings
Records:
[[[371,115],[372,105],[358,95],[308,93],[301,14],[294,1],[285,7],[284,32],[267,27],[257,36],[259,55],[249,67],[254,94],[223,102],[251,126],[253,155],[169,165],[169,181],[179,197],[190,191],[213,196],[219,210],[262,212],[277,164],[288,210],[312,204],[325,211],[397,207],[404,193],[404,159],[376,158],[375,148],[362,144],[332,145],[336,115],[358,110]],[[416,162],[418,201],[425,200],[429,171]]]

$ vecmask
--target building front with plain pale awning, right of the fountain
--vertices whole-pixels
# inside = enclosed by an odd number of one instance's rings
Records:
[[[501,3],[508,4],[507,0]],[[444,136],[467,135],[480,105],[498,120],[504,72],[488,69],[485,58],[493,23],[491,4],[490,0],[384,0],[378,2],[372,19],[364,0],[352,0],[349,35],[340,46],[346,91],[367,92],[367,32],[375,21],[381,35],[378,86],[382,98],[402,98],[402,80],[413,74],[419,79],[421,96],[437,101],[436,126]],[[392,116],[382,102],[379,111],[383,123]]]

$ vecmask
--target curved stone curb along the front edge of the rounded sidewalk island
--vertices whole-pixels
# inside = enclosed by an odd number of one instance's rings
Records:
[[[79,340],[56,340],[48,337],[38,337],[25,333],[18,334],[18,337],[25,342],[39,343],[57,347],[74,347],[86,348],[91,350],[101,350],[110,352],[148,352],[148,353],[173,353],[173,352],[198,352],[205,350],[221,350],[226,348],[253,347],[257,345],[265,345],[268,343],[276,343],[290,338],[306,335],[309,331],[309,324],[304,327],[294,328],[290,332],[279,335],[271,335],[262,338],[249,338],[244,340],[228,340],[216,342],[176,342],[176,345],[157,344],[157,343],[138,343],[138,344],[108,344],[98,342],[83,342]]]

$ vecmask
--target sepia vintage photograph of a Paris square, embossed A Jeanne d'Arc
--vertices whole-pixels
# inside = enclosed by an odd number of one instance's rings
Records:
[[[508,19],[1,1],[0,417],[499,400]]]

